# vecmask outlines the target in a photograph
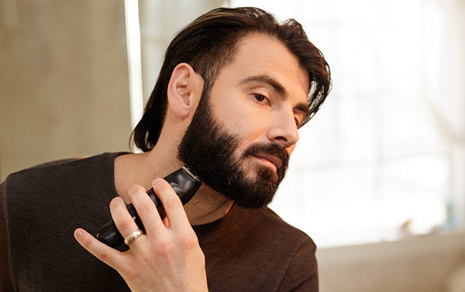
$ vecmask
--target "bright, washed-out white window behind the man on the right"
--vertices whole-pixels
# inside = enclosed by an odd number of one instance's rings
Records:
[[[462,226],[465,31],[459,1],[228,1],[295,18],[333,89],[271,207],[319,246]]]

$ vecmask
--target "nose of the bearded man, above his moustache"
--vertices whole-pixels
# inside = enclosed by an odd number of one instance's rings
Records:
[[[272,118],[271,127],[268,131],[268,139],[280,144],[284,148],[294,146],[298,141],[298,130],[294,114],[277,113]]]

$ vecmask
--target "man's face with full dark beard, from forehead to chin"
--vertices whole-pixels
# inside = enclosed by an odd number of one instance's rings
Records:
[[[212,189],[264,207],[285,176],[308,112],[308,75],[275,39],[251,34],[202,96],[179,158]]]

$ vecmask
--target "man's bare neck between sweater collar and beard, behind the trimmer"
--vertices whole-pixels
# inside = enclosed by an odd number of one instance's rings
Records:
[[[118,195],[130,203],[128,189],[133,184],[150,189],[155,178],[164,178],[182,166],[172,154],[162,153],[156,146],[146,153],[120,155],[115,159],[115,188]],[[185,212],[191,225],[202,225],[222,218],[232,205],[231,200],[203,184],[185,205]]]

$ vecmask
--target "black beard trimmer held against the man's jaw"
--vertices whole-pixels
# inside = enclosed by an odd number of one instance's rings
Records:
[[[183,205],[187,204],[187,202],[189,202],[189,200],[192,199],[192,197],[202,184],[198,176],[194,174],[187,166],[183,166],[183,168],[178,169],[173,173],[170,173],[169,175],[167,175],[167,177],[164,178],[164,180],[167,180],[167,182],[171,184],[171,187],[173,187],[174,191],[179,196]],[[149,195],[151,200],[153,200],[153,203],[155,203],[160,217],[162,219],[166,217],[162,202],[155,195],[153,189],[149,189],[149,191],[147,191],[147,194]],[[144,225],[142,225],[142,221],[140,220],[139,215],[137,215],[137,212],[135,211],[133,204],[129,204],[127,207],[129,214],[133,216],[133,219],[137,226],[140,228],[140,230],[145,232]],[[113,222],[111,219],[99,229],[99,232],[96,234],[96,238],[112,248],[117,248],[124,243],[123,236],[119,233],[115,225],[115,222]]]

